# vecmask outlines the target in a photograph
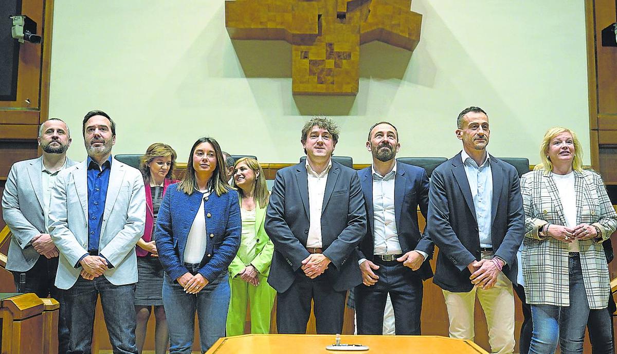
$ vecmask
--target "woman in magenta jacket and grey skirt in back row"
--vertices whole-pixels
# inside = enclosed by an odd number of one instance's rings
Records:
[[[146,226],[144,236],[137,241],[137,271],[139,281],[135,288],[135,313],[137,327],[135,339],[139,353],[143,351],[146,340],[148,319],[154,308],[156,329],[154,332],[155,353],[164,354],[167,351],[169,335],[167,318],[163,307],[163,267],[160,265],[152,230],[159,214],[160,202],[167,187],[176,183],[173,179],[173,168],[176,165],[176,151],[162,142],[155,142],[141,157],[139,170],[144,177],[146,191]]]

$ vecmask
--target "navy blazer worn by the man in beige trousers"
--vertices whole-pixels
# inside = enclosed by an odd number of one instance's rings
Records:
[[[493,200],[491,238],[495,256],[506,261],[503,274],[516,284],[516,251],[523,242],[525,215],[516,168],[491,155]],[[439,247],[433,282],[451,292],[473,289],[467,266],[481,259],[476,210],[459,153],[431,175],[427,227]]]

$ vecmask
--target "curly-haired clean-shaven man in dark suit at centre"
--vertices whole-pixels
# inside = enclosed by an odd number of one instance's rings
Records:
[[[341,333],[347,290],[362,282],[355,247],[366,211],[357,173],[331,159],[338,137],[333,121],[312,118],[302,128],[306,162],[276,173],[265,229],[279,333],[306,332],[311,300],[317,333]]]

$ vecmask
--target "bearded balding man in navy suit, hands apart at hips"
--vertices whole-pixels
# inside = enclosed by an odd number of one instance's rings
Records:
[[[433,276],[427,261],[434,245],[418,227],[426,217],[429,183],[424,168],[397,163],[399,133],[391,123],[371,126],[366,149],[373,164],[358,171],[366,205],[366,236],[358,246],[362,284],[355,288],[358,334],[381,334],[387,295],[395,334],[420,335],[422,281]]]

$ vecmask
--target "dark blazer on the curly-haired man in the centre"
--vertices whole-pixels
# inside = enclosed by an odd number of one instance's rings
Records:
[[[282,168],[276,172],[265,220],[275,250],[268,283],[277,292],[289,289],[294,273],[302,272],[302,260],[309,257],[305,248],[309,218],[305,163]],[[365,234],[366,211],[358,175],[333,161],[323,196],[321,239],[323,255],[332,261],[328,268],[334,268],[330,274],[334,290],[351,289],[362,282],[355,247]]]

